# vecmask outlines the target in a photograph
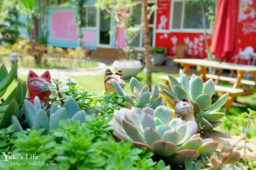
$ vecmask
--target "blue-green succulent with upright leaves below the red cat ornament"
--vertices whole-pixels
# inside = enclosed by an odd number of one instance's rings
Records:
[[[84,123],[86,117],[85,110],[80,111],[78,104],[73,98],[68,99],[61,108],[52,104],[51,108],[46,111],[42,108],[40,99],[37,96],[35,96],[34,105],[27,99],[24,100],[24,115],[27,124],[32,128],[32,126],[38,123],[40,128],[45,129],[43,134],[48,134],[49,129],[56,129],[60,120],[72,119],[74,122],[80,120],[80,123]],[[17,117],[12,116],[11,119],[12,123],[16,124],[15,131],[21,131],[22,127]]]

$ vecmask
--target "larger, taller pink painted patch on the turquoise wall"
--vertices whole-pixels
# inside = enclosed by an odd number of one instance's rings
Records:
[[[53,42],[56,39],[69,41],[69,44],[72,44],[72,41],[76,41],[78,35],[74,12],[72,10],[54,12],[52,14],[50,32]]]

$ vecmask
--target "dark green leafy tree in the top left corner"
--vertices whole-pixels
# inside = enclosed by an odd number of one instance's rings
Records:
[[[10,44],[18,41],[20,35],[18,26],[21,25],[18,22],[19,10],[18,0],[3,0],[0,9],[0,34],[3,38],[0,38],[0,41]]]

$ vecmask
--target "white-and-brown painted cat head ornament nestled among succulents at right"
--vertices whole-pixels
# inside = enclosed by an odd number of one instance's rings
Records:
[[[195,120],[194,108],[187,96],[184,96],[181,101],[174,99],[175,114],[181,117],[182,120]]]

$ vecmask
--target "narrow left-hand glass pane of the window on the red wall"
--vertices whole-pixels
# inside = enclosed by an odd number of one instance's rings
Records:
[[[180,29],[181,27],[181,12],[182,12],[182,3],[183,2],[174,2],[173,8],[173,18],[172,18],[172,28]]]

